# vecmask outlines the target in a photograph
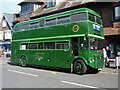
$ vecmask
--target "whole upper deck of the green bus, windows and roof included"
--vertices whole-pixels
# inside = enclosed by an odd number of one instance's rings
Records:
[[[18,23],[14,28],[16,36],[13,37],[13,40],[79,34],[103,37],[102,27],[99,14],[90,9],[81,8]],[[21,36],[17,35],[18,32],[21,33]],[[38,33],[34,36],[36,32]]]

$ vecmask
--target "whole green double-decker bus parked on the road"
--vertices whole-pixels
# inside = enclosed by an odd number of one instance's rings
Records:
[[[101,16],[91,9],[40,17],[15,25],[11,62],[84,74],[89,68],[98,70],[104,65],[98,52],[100,39],[104,39]]]

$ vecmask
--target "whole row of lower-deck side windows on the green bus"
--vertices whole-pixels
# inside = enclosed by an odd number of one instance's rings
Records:
[[[20,50],[30,49],[69,49],[69,41],[62,42],[38,42],[38,43],[23,43]]]

